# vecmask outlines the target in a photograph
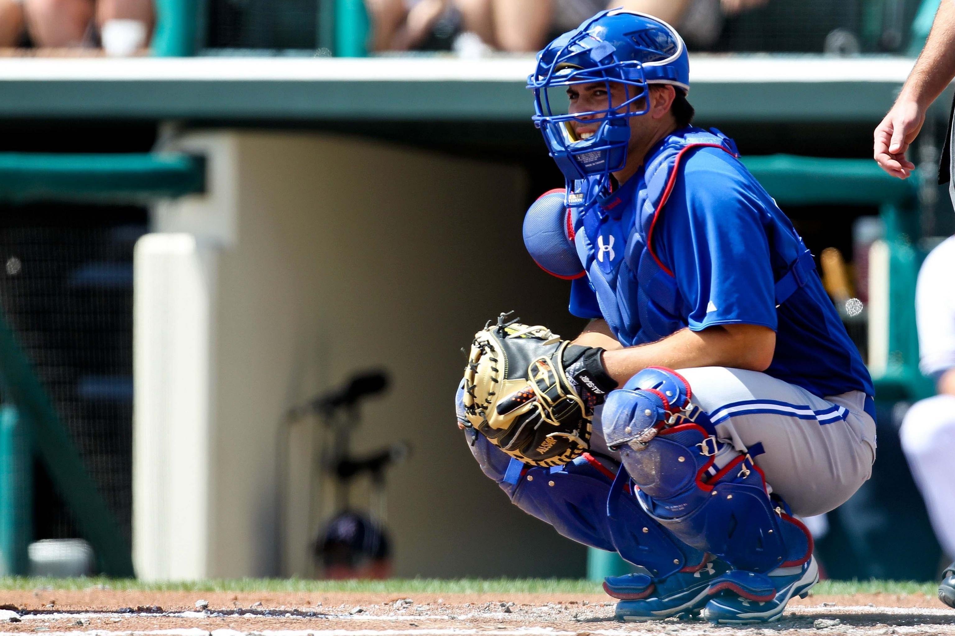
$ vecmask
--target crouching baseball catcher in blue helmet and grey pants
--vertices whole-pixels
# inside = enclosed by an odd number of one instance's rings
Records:
[[[590,322],[489,322],[457,421],[513,503],[636,566],[605,580],[619,619],[773,621],[818,580],[794,515],[871,474],[872,380],[790,220],[731,139],[690,125],[668,24],[598,13],[528,88],[565,186],[524,243]]]

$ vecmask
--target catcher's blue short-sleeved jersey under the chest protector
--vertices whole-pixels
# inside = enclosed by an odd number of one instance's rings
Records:
[[[853,390],[873,395],[859,351],[815,271],[776,306],[781,263],[774,252],[774,233],[791,233],[800,245],[801,239],[753,175],[736,157],[718,148],[693,149],[673,170],[672,190],[651,234],[654,256],[672,274],[679,297],[674,303],[675,328],[669,333],[682,327],[701,331],[724,324],[769,327],[775,331],[776,342],[768,375],[819,397]],[[637,209],[641,197],[646,199],[644,190],[644,174],[635,174],[615,193],[623,199],[615,204]],[[629,223],[631,233],[639,232],[638,224],[627,220],[636,213],[615,216]],[[601,223],[591,219],[591,225],[596,228],[590,228],[591,233],[597,236],[591,240],[597,243],[602,240]],[[591,261],[593,247],[587,248]],[[600,245],[596,247],[599,252]],[[594,271],[588,271],[588,277],[572,282],[572,314],[605,318],[603,305],[605,309],[612,306],[616,317],[638,315],[636,307],[620,306],[622,295],[607,293],[605,283],[595,285],[592,277]],[[621,340],[625,345],[640,341]]]

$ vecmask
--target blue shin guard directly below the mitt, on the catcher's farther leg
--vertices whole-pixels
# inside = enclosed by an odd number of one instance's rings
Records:
[[[481,470],[521,510],[568,539],[618,552],[645,568],[647,574],[629,579],[626,592],[621,592],[626,598],[646,596],[669,575],[706,565],[703,552],[683,544],[647,515],[616,462],[585,453],[562,466],[530,467],[511,460],[472,429],[466,434]],[[618,473],[622,476],[615,479]]]

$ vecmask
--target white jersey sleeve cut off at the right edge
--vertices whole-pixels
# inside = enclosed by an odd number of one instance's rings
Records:
[[[936,380],[955,368],[955,237],[948,238],[925,257],[915,291],[919,353],[924,375]]]

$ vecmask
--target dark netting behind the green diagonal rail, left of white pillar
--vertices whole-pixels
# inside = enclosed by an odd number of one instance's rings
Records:
[[[0,207],[0,304],[87,470],[132,535],[133,246],[141,208]],[[33,538],[79,536],[41,462]]]

